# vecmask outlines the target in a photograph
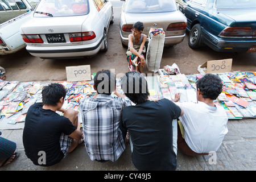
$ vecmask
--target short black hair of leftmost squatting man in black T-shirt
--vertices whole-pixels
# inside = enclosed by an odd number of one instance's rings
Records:
[[[42,90],[42,102],[43,105],[56,106],[60,101],[60,98],[63,97],[63,101],[66,96],[66,90],[63,85],[52,83],[48,86],[44,86]]]

